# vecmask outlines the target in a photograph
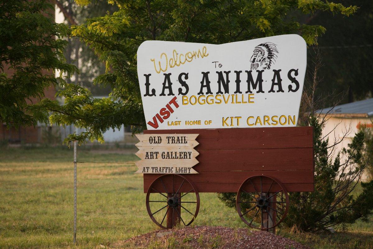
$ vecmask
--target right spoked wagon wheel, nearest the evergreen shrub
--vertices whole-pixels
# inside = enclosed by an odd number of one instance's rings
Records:
[[[280,181],[256,175],[247,178],[239,187],[236,208],[239,217],[247,225],[268,230],[286,217],[289,195]]]

